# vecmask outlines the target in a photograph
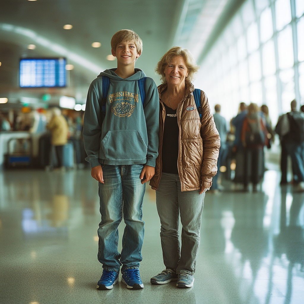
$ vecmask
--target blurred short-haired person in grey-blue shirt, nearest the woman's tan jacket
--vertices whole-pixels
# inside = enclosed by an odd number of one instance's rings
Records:
[[[219,114],[221,112],[221,106],[215,105],[214,109],[215,109],[215,114],[213,114],[213,119],[216,129],[219,131],[221,147],[219,148],[219,158],[217,160],[217,173],[215,176],[213,176],[212,186],[210,190],[212,190],[213,192],[218,192],[219,185],[217,183],[220,175],[219,168],[222,166],[223,161],[225,161],[225,157],[227,155],[226,154],[227,123],[226,123],[226,119]]]

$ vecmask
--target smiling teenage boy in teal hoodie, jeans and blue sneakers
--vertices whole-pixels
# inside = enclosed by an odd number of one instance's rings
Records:
[[[97,288],[112,289],[122,265],[121,282],[127,288],[142,289],[142,204],[145,183],[154,175],[158,155],[159,96],[154,81],[146,78],[142,104],[138,80],[146,75],[134,68],[142,53],[140,37],[131,30],[120,30],[112,37],[111,48],[117,68],[105,70],[92,81],[83,129],[86,160],[92,177],[99,182],[98,261],[103,272]],[[102,96],[102,76],[109,78],[107,96]],[[119,253],[118,225],[122,218],[126,227]]]

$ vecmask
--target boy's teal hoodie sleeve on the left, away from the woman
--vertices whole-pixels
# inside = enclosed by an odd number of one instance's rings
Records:
[[[98,100],[101,100],[101,98],[102,96],[99,96],[99,92],[95,88],[93,81],[88,90],[83,122],[83,140],[85,143],[85,152],[88,155],[85,160],[90,163],[91,168],[100,165],[98,157],[102,120]]]

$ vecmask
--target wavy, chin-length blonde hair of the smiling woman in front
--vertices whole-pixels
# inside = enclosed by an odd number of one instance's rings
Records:
[[[169,64],[173,57],[181,56],[183,57],[186,67],[188,69],[188,77],[185,81],[191,82],[194,79],[194,74],[199,70],[199,66],[196,65],[192,54],[187,49],[183,49],[182,47],[172,47],[158,62],[155,67],[156,74],[161,76],[161,82],[167,83],[166,76],[164,73],[164,69],[167,64]]]

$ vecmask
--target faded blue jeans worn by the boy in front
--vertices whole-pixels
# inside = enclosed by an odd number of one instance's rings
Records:
[[[98,261],[107,271],[119,273],[139,268],[142,261],[144,222],[142,221],[145,184],[141,184],[143,165],[102,164],[104,184],[99,183],[101,222],[98,229]],[[118,252],[118,225],[124,218],[123,249]]]

